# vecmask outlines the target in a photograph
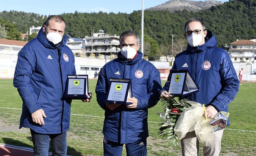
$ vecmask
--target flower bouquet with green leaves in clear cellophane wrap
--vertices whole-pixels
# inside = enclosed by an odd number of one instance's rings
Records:
[[[204,146],[211,146],[214,137],[212,132],[226,127],[229,113],[220,112],[215,115],[214,119],[207,119],[203,116],[205,108],[202,104],[187,99],[175,99],[162,99],[165,112],[159,113],[164,121],[160,124],[160,136],[169,139],[169,145],[176,149],[180,139],[188,132],[195,131],[199,142],[202,142]],[[216,120],[214,122],[216,124],[209,124],[213,120]]]

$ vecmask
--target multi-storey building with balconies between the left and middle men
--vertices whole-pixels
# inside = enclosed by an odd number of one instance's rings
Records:
[[[85,37],[84,53],[87,57],[101,59],[115,59],[119,48],[119,36],[100,33],[92,33],[91,37]]]

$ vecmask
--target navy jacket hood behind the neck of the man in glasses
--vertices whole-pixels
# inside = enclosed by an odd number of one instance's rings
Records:
[[[192,53],[198,53],[198,52],[202,52],[205,49],[208,49],[210,47],[216,47],[217,46],[217,40],[216,40],[214,34],[210,30],[207,30],[207,34],[206,34],[206,37],[204,38],[204,40],[205,40],[205,43],[202,44],[201,46],[191,47],[188,44],[187,50],[192,52]]]

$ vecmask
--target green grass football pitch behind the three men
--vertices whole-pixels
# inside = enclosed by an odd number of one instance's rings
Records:
[[[0,79],[0,143],[33,148],[30,132],[18,129],[22,100],[12,79]],[[96,79],[89,80],[91,102],[73,100],[70,130],[68,131],[68,155],[102,156],[104,110],[96,101]],[[162,81],[164,85],[165,81]],[[256,83],[242,82],[235,100],[229,104],[230,126],[224,130],[220,156],[256,155]],[[209,88],[211,89],[211,88]],[[181,148],[168,146],[168,140],[158,135],[162,119],[156,113],[163,112],[162,103],[148,109],[148,156],[179,156]],[[202,144],[200,144],[202,147]],[[51,151],[51,148],[50,148]],[[1,155],[1,154],[0,154]],[[125,146],[123,150],[125,154]],[[199,155],[202,155],[200,148]]]

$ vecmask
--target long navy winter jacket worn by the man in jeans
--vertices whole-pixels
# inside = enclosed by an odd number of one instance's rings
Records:
[[[20,128],[43,134],[58,134],[69,129],[71,100],[63,97],[68,74],[76,74],[75,58],[63,36],[58,48],[40,29],[37,38],[19,52],[13,85],[23,101]],[[42,108],[45,125],[32,121],[31,113]]]

